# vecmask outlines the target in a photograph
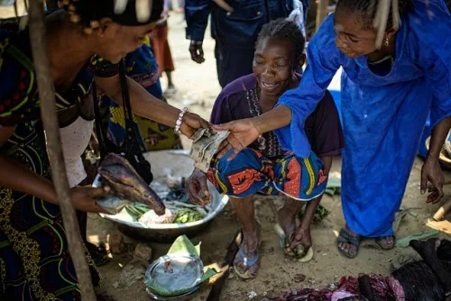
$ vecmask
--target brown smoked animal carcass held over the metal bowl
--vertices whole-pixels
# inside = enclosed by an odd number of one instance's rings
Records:
[[[130,202],[149,205],[156,214],[164,214],[165,206],[160,196],[121,156],[114,153],[107,154],[97,172],[101,177],[101,183],[111,188],[112,195]]]

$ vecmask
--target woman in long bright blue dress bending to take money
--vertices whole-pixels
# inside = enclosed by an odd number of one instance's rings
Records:
[[[420,190],[424,194],[430,182],[427,202],[442,198],[444,178],[437,159],[451,127],[451,16],[445,3],[400,0],[400,23],[393,23],[390,12],[380,49],[374,46],[376,8],[373,1],[340,0],[308,44],[308,68],[299,87],[266,114],[215,126],[232,132],[218,157],[228,152],[232,160],[272,130],[284,149],[308,157],[304,123],[342,67],[346,225],[337,246],[349,258],[357,255],[363,236],[376,239],[383,249],[394,247],[391,225],[429,113],[433,131]],[[295,243],[301,238],[298,233]]]

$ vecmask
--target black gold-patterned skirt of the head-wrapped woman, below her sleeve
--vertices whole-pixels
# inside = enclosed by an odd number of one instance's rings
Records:
[[[31,124],[20,124],[5,153],[50,178],[47,154]],[[86,251],[95,286],[100,274]],[[60,207],[0,187],[0,300],[80,300]]]

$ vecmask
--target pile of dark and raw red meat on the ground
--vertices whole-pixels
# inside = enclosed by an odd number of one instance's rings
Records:
[[[410,246],[422,260],[410,262],[388,277],[344,277],[336,289],[301,288],[273,301],[443,301],[451,295],[451,242],[429,239]]]

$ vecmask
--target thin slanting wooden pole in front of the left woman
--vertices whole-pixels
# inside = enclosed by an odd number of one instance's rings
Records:
[[[55,93],[51,78],[50,60],[47,57],[45,16],[42,0],[30,1],[30,41],[41,100],[41,118],[51,161],[51,177],[60,203],[69,252],[77,272],[78,285],[83,301],[96,301],[91,274],[81,242],[75,210],[72,207],[69,184],[60,142],[60,126],[55,107]]]

